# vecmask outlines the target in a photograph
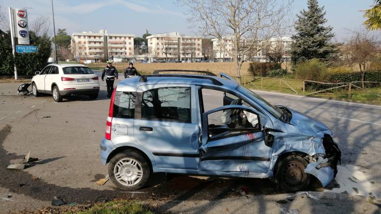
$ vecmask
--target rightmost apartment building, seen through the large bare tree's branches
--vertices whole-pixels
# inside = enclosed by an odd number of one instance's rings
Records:
[[[230,51],[230,52],[233,51],[234,45],[233,45],[232,37],[224,37],[221,41],[222,45],[220,45],[218,39],[212,39],[212,42],[213,42],[213,56],[215,59],[217,59],[218,61],[233,60],[233,56],[229,55],[225,51],[225,49],[223,49],[223,46],[225,46],[226,49],[228,49],[228,51]],[[243,40],[242,42],[247,43],[250,41]],[[280,37],[280,38],[274,37],[274,38],[271,38],[265,42],[268,43],[268,47],[270,49],[275,49],[275,48],[281,46],[282,49],[284,50],[283,57],[286,60],[289,60],[291,58],[290,54],[287,54],[287,52],[291,48],[291,43],[293,42],[291,37]],[[252,60],[252,61],[259,61],[259,62],[267,62],[268,61],[265,50],[261,50],[261,51],[257,52],[256,54],[253,54],[250,57],[249,56],[244,56],[244,57],[245,57],[245,60]]]

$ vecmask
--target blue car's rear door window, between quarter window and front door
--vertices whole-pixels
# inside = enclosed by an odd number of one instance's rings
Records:
[[[168,87],[143,93],[141,118],[191,122],[191,88]]]

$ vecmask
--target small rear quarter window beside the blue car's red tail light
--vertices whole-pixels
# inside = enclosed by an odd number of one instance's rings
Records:
[[[114,101],[114,117],[134,118],[135,117],[136,93],[116,92]]]

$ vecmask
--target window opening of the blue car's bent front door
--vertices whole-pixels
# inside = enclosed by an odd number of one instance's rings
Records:
[[[243,108],[231,108],[207,115],[210,140],[259,131],[256,114]]]

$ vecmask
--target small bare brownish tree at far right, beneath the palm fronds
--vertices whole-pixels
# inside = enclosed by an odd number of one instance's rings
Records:
[[[343,57],[348,64],[356,63],[361,72],[362,87],[364,88],[367,64],[378,54],[380,42],[375,34],[368,30],[353,30],[352,37],[342,46]]]

